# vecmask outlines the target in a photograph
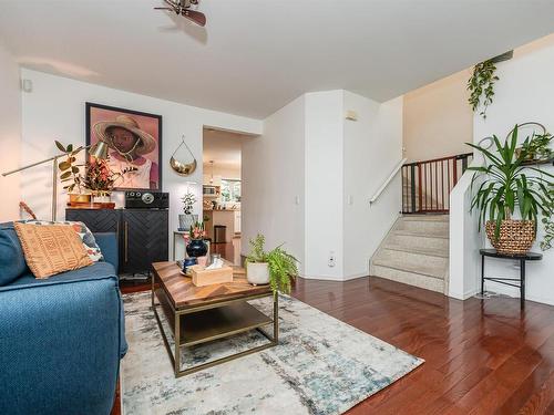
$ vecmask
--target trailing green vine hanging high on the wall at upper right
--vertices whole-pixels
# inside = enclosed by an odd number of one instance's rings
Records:
[[[478,63],[473,68],[473,73],[468,81],[468,90],[471,93],[468,102],[470,103],[473,112],[478,111],[479,107],[482,107],[479,115],[485,120],[486,108],[493,102],[494,84],[499,81],[499,76],[496,75],[496,63],[507,61],[512,59],[512,56],[513,51],[509,51],[484,62]]]

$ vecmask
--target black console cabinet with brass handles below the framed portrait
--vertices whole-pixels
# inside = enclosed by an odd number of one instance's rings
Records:
[[[92,232],[115,232],[121,273],[148,272],[168,259],[168,211],[156,209],[70,209],[65,220],[84,222]]]

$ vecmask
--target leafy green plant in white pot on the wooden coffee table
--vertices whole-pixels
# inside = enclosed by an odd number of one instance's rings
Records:
[[[298,260],[281,247],[266,252],[264,250],[265,237],[257,235],[250,239],[250,253],[246,257],[246,279],[252,284],[271,286],[275,292],[290,292],[290,282],[298,276]]]

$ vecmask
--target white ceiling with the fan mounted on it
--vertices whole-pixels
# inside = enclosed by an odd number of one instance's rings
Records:
[[[0,0],[28,68],[264,118],[309,91],[386,101],[552,32],[553,0]]]

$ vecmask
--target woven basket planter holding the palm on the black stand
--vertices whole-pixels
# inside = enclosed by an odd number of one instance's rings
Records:
[[[502,220],[499,239],[494,238],[496,224],[486,221],[486,236],[499,253],[527,253],[535,240],[535,222],[533,220]]]

